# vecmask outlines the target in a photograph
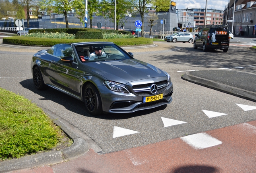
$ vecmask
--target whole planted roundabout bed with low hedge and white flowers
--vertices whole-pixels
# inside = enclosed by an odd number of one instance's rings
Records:
[[[153,44],[150,38],[134,37],[130,32],[97,29],[42,29],[29,30],[27,36],[12,36],[3,38],[5,44],[29,46],[53,46],[60,43],[75,42],[114,42],[118,46]]]

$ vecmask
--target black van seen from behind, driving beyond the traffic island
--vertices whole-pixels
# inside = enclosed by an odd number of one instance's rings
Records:
[[[208,49],[221,49],[227,52],[229,48],[227,25],[205,25],[195,36],[194,49],[201,47],[204,52]]]

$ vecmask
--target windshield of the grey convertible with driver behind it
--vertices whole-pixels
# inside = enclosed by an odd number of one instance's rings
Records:
[[[131,59],[132,57],[116,44],[81,44],[75,45],[82,62]],[[85,60],[84,60],[85,59]]]

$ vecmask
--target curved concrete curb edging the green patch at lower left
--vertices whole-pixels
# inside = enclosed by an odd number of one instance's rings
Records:
[[[59,117],[45,109],[43,109],[43,111],[48,113],[54,123],[58,125],[64,131],[64,133],[66,133],[66,135],[68,135],[68,137],[74,141],[73,144],[70,147],[60,151],[49,151],[21,157],[19,159],[11,159],[0,162],[1,173],[61,163],[79,157],[89,151],[90,145],[85,141],[85,139],[77,135],[71,128],[69,128],[66,125],[66,121],[59,119]]]

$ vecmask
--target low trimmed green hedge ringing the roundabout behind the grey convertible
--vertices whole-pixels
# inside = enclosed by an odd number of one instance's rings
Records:
[[[114,42],[118,46],[153,44],[150,38],[115,38],[115,39],[58,39],[58,38],[37,38],[27,36],[12,36],[3,38],[3,43],[6,44],[20,44],[30,46],[53,46],[60,43],[75,43],[75,42]]]

